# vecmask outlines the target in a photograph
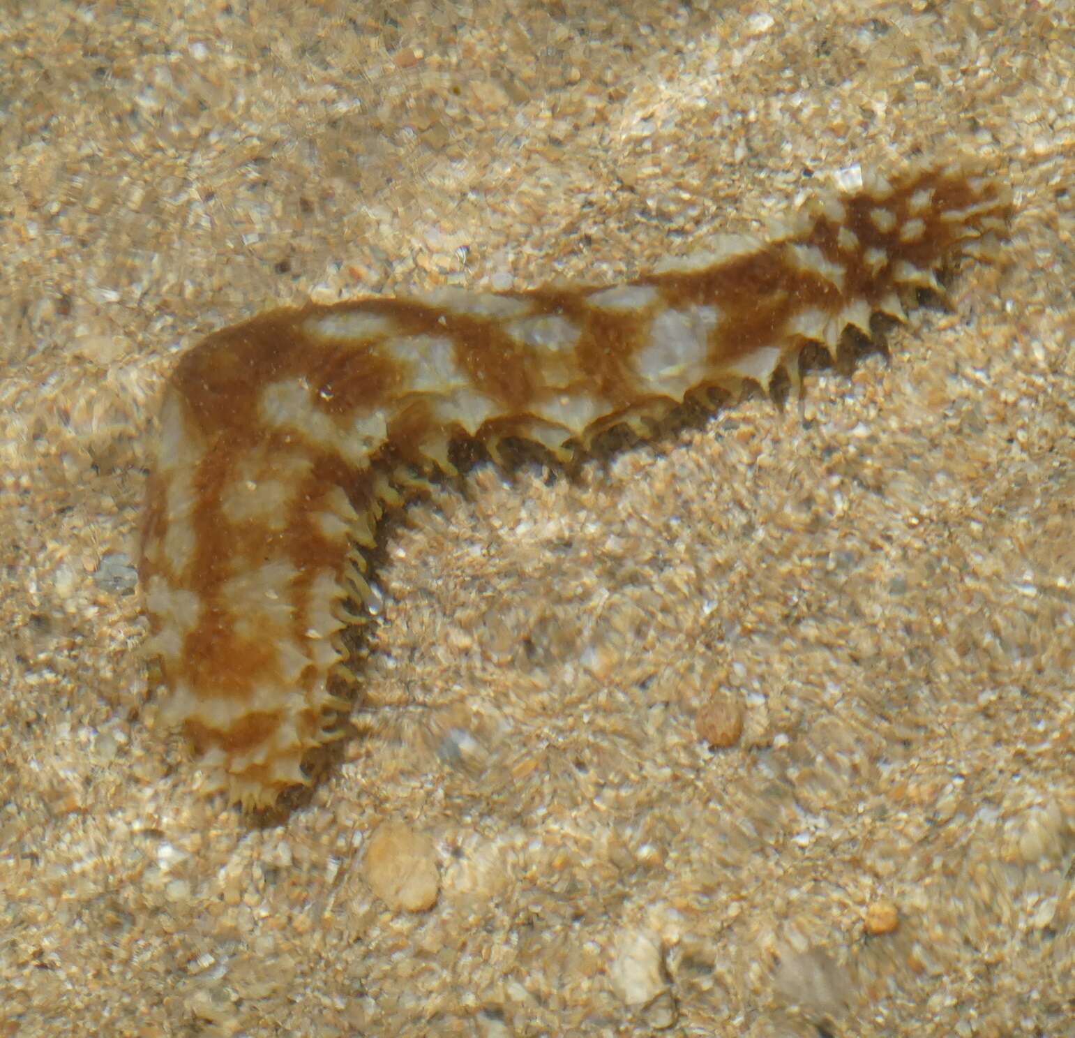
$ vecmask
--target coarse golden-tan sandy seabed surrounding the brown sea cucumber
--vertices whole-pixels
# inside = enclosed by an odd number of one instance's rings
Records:
[[[0,98],[0,1035],[1075,1035],[1071,3],[23,3]],[[133,565],[180,352],[921,155],[1010,184],[998,262],[412,508],[339,759],[206,793]]]

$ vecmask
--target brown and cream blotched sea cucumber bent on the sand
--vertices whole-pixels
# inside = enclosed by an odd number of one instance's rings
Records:
[[[141,580],[182,724],[233,800],[310,780],[354,680],[344,628],[377,524],[512,440],[567,460],[628,423],[744,382],[798,383],[809,342],[904,316],[960,255],[988,258],[1010,209],[961,166],[819,193],[765,238],[721,236],[622,285],[367,298],[217,331],[168,382]]]

